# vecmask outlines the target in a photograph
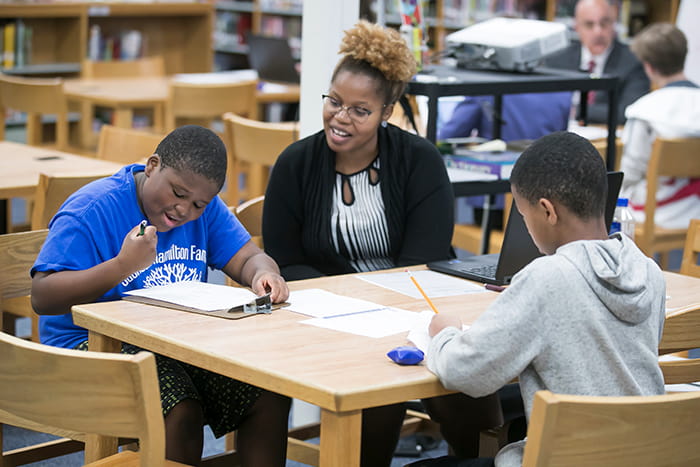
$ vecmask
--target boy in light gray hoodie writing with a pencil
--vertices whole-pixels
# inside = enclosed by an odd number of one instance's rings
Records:
[[[598,152],[573,133],[552,133],[523,152],[510,182],[517,209],[547,256],[516,274],[469,329],[462,331],[457,316],[435,315],[428,368],[446,388],[472,397],[518,378],[528,419],[541,389],[663,394],[657,348],[664,278],[628,237],[608,237],[607,177]],[[495,465],[520,466],[525,442],[504,447]]]

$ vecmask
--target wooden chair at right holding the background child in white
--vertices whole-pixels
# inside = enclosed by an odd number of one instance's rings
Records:
[[[659,253],[661,268],[667,269],[668,253],[683,248],[687,229],[665,229],[654,222],[660,176],[700,177],[700,138],[657,138],[649,158],[645,219],[636,225],[634,240],[647,256]]]

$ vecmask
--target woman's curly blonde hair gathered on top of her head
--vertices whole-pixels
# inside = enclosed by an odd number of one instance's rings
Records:
[[[331,81],[341,71],[362,73],[377,80],[377,93],[386,104],[396,102],[416,73],[416,59],[398,31],[360,20],[345,31],[340,44],[343,58]]]

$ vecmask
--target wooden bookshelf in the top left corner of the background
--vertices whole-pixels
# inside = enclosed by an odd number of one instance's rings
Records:
[[[3,31],[8,24],[22,24],[31,33],[23,63],[13,60],[1,68],[8,74],[75,76],[88,56],[90,32],[99,29],[103,37],[136,31],[139,53],[163,55],[168,74],[211,71],[213,14],[209,2],[3,4]]]

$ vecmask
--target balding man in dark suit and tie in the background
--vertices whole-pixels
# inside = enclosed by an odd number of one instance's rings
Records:
[[[617,119],[622,124],[627,106],[649,92],[649,79],[629,47],[615,37],[616,18],[617,8],[609,0],[579,0],[574,11],[574,29],[580,42],[573,41],[547,59],[547,66],[617,76]],[[589,92],[587,117],[589,122],[607,122],[607,92]]]

